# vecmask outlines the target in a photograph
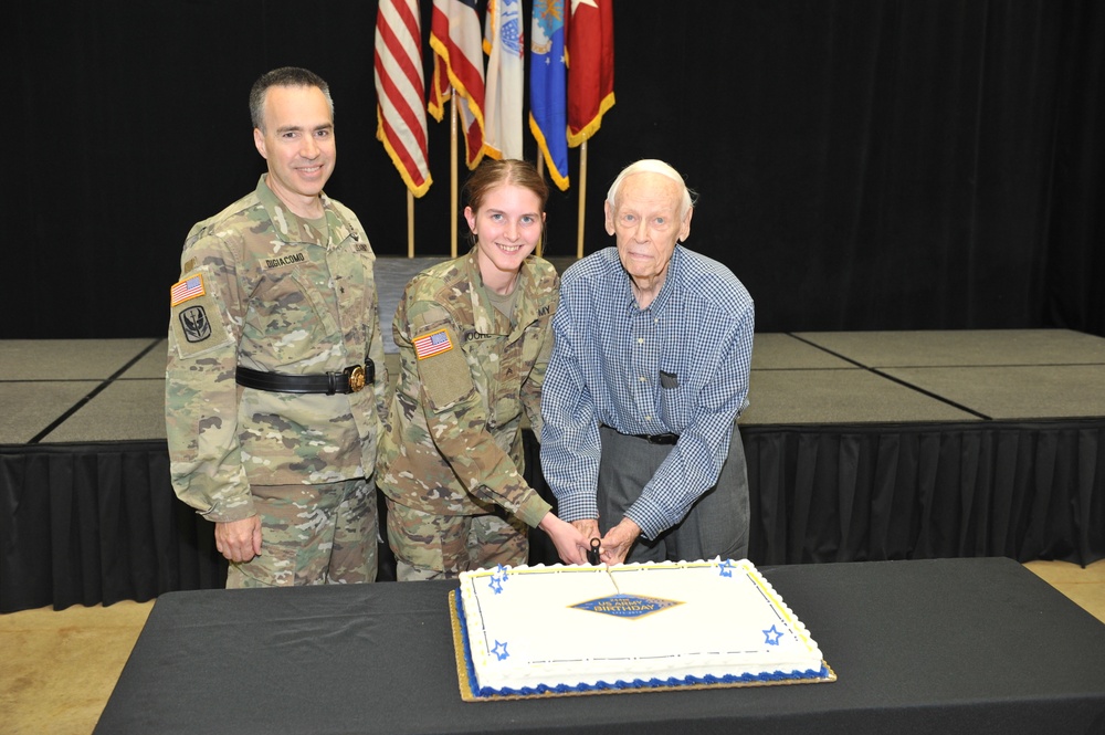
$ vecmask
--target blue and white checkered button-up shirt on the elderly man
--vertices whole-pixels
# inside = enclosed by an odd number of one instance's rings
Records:
[[[733,424],[748,405],[754,321],[737,277],[681,245],[645,309],[617,248],[565,271],[541,393],[541,468],[561,518],[598,517],[603,423],[623,434],[678,434],[625,515],[645,538],[686,516],[717,482]]]

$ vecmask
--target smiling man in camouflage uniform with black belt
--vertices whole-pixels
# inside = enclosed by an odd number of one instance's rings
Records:
[[[274,70],[250,109],[267,172],[192,228],[170,292],[172,485],[214,522],[228,587],[373,581],[387,416],[376,256],[357,217],[323,193],[335,161],[326,83]]]

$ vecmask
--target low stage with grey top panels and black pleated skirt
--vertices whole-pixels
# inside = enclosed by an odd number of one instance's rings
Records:
[[[381,313],[418,260],[381,263]],[[211,525],[168,481],[165,353],[0,340],[0,612],[222,585]],[[1105,557],[1105,338],[757,334],[749,400],[756,564]],[[532,434],[527,463],[547,494]]]

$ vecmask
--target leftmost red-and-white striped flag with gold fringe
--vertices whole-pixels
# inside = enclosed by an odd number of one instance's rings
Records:
[[[420,23],[418,0],[380,0],[376,15],[376,138],[415,197],[424,195],[433,182],[427,162]]]

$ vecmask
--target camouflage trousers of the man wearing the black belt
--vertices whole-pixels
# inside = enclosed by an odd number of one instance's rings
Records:
[[[227,587],[376,581],[376,485],[254,485],[261,555],[231,564]]]

